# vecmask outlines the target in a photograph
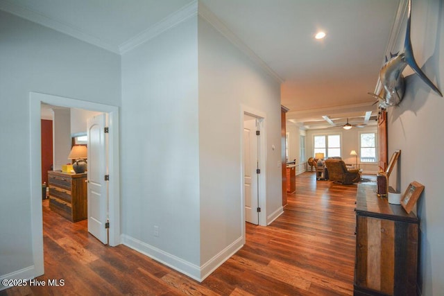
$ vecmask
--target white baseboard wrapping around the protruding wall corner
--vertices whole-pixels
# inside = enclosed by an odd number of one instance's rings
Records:
[[[180,259],[178,256],[174,256],[173,254],[169,254],[164,252],[157,247],[153,247],[152,245],[148,245],[143,241],[139,241],[137,238],[133,238],[126,234],[121,235],[121,243],[130,247],[137,252],[140,252],[155,261],[159,261],[160,263],[177,270],[178,272],[191,277],[191,279],[195,279],[196,281],[203,281],[206,277],[208,277],[216,268],[222,265],[225,261],[230,259],[230,257],[236,253],[242,246],[242,237],[237,238],[231,245],[225,247],[219,254],[216,254],[212,259],[207,261],[201,266],[190,263],[183,259]]]

